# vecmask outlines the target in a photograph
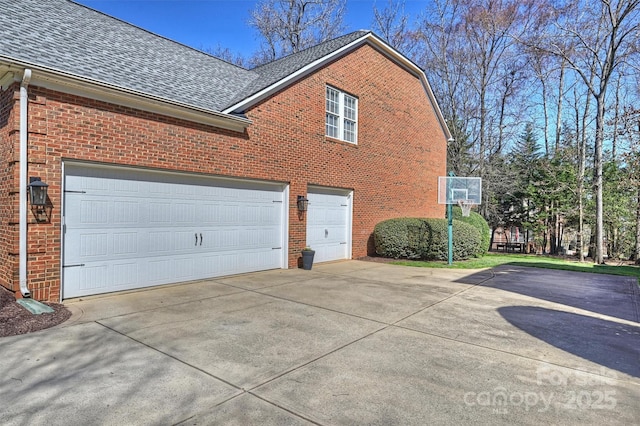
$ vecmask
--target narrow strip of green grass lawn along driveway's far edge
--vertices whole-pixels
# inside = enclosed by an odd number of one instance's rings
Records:
[[[596,265],[591,262],[577,262],[558,259],[551,256],[524,254],[488,253],[477,259],[447,262],[423,262],[418,260],[398,260],[395,265],[417,266],[422,268],[481,269],[498,265],[531,266],[534,268],[561,269],[563,271],[590,272],[594,274],[625,275],[638,278],[640,283],[640,266]]]

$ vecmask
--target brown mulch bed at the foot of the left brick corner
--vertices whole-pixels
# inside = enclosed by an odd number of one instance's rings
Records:
[[[65,322],[71,312],[59,303],[45,303],[53,312],[34,315],[16,302],[12,292],[0,287],[0,337],[44,330]]]

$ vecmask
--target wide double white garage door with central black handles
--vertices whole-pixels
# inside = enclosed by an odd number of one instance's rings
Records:
[[[63,298],[285,267],[283,185],[66,165]]]

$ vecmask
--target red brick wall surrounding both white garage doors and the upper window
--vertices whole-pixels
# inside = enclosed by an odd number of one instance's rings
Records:
[[[324,135],[326,84],[358,97],[357,145]],[[446,141],[424,89],[369,46],[247,111],[254,124],[245,134],[36,87],[30,94],[29,175],[50,185],[53,204],[49,223],[29,226],[34,298],[60,296],[62,159],[289,182],[289,267],[305,245],[306,217],[295,201],[308,185],[354,190],[354,258],[372,253],[381,220],[444,214],[437,177],[445,174]],[[11,271],[0,283],[12,285]]]

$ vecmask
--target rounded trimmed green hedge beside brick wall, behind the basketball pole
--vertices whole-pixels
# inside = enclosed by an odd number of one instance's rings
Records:
[[[397,218],[380,222],[373,231],[376,253],[395,259],[447,260],[446,219]],[[472,225],[453,221],[453,259],[482,254],[480,232]]]

